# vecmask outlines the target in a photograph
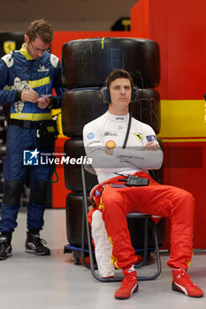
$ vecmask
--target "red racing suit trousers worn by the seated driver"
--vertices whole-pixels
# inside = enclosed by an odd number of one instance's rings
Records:
[[[138,211],[170,217],[171,256],[167,264],[171,268],[187,269],[193,256],[194,197],[183,189],[159,185],[144,172],[141,172],[141,177],[143,174],[149,178],[148,186],[126,187],[115,177],[103,189],[96,205],[103,212],[105,229],[111,241],[111,260],[116,268],[123,270],[132,267],[137,261],[126,215]]]

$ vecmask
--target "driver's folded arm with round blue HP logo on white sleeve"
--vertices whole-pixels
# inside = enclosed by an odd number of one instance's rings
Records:
[[[106,148],[103,146],[101,128],[95,125],[86,124],[83,129],[83,139],[85,152],[88,158],[92,159],[92,166],[95,170],[101,170],[103,173],[116,172],[119,169],[134,169],[132,163],[122,158],[105,153]]]

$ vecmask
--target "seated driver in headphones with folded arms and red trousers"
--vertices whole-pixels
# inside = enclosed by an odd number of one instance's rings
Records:
[[[126,222],[128,213],[138,211],[171,218],[171,256],[167,264],[172,268],[172,290],[189,297],[201,298],[203,291],[187,275],[193,256],[194,197],[183,189],[159,185],[149,176],[148,170],[160,169],[163,152],[155,132],[148,124],[132,118],[126,148],[123,147],[129,103],[136,91],[130,74],[122,69],[114,70],[106,79],[104,89],[108,92],[109,109],[103,116],[85,125],[83,137],[86,154],[92,158],[99,182],[90,196],[93,204],[91,213],[94,213],[92,218],[100,217],[99,212],[102,213],[112,247],[111,260],[116,268],[123,270],[124,275],[114,296],[119,299],[130,298],[138,290],[134,269],[138,258],[131,244]],[[119,181],[120,178],[126,179],[128,175],[148,178],[149,185],[126,186]],[[95,253],[102,244],[108,247],[102,225],[95,224],[95,229],[92,226]],[[100,259],[97,260],[99,269],[107,267],[107,264],[100,265],[103,260],[107,260],[103,254],[102,250]],[[107,275],[112,275],[111,265],[108,269]]]

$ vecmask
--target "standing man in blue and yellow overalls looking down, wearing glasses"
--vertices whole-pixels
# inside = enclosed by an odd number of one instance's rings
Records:
[[[57,124],[51,108],[60,107],[64,91],[59,59],[50,54],[53,29],[43,20],[34,20],[27,29],[20,50],[0,59],[0,104],[10,104],[6,157],[4,158],[4,198],[0,221],[0,260],[11,255],[11,236],[17,227],[20,197],[27,177],[23,164],[25,150],[33,155],[52,154]],[[53,88],[57,96],[52,95]],[[47,185],[54,166],[29,167],[30,198],[27,206],[26,252],[49,255],[42,244],[40,230],[46,204]]]

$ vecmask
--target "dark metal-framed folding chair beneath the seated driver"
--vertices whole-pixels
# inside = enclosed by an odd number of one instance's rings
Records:
[[[88,191],[87,191],[87,184],[86,184],[86,177],[85,177],[85,170],[89,171],[92,174],[95,174],[95,170],[91,166],[85,167],[84,164],[81,164],[81,177],[82,177],[82,185],[83,185],[83,207],[82,207],[82,235],[81,235],[81,260],[82,264],[86,268],[91,269],[92,275],[95,277],[96,280],[101,282],[119,282],[122,281],[122,276],[114,276],[113,278],[101,278],[95,272],[95,260],[94,260],[94,251],[93,245],[90,235],[90,227],[87,220],[88,217]],[[95,176],[95,175],[94,175]],[[96,176],[95,176],[96,177]],[[126,215],[126,218],[135,218],[144,220],[144,248],[143,248],[143,260],[141,263],[135,265],[135,268],[140,268],[143,266],[148,259],[149,254],[149,247],[148,247],[148,240],[149,240],[149,228],[152,231],[153,238],[154,238],[154,245],[155,245],[155,252],[156,252],[156,273],[153,275],[145,275],[145,276],[138,276],[139,281],[149,281],[154,280],[158,275],[160,275],[162,270],[160,254],[159,254],[159,245],[156,233],[156,223],[151,219],[151,215],[142,214],[139,212],[134,212]],[[86,224],[86,225],[85,225]],[[90,267],[86,263],[85,260],[85,237],[88,237],[88,255],[90,260]]]

